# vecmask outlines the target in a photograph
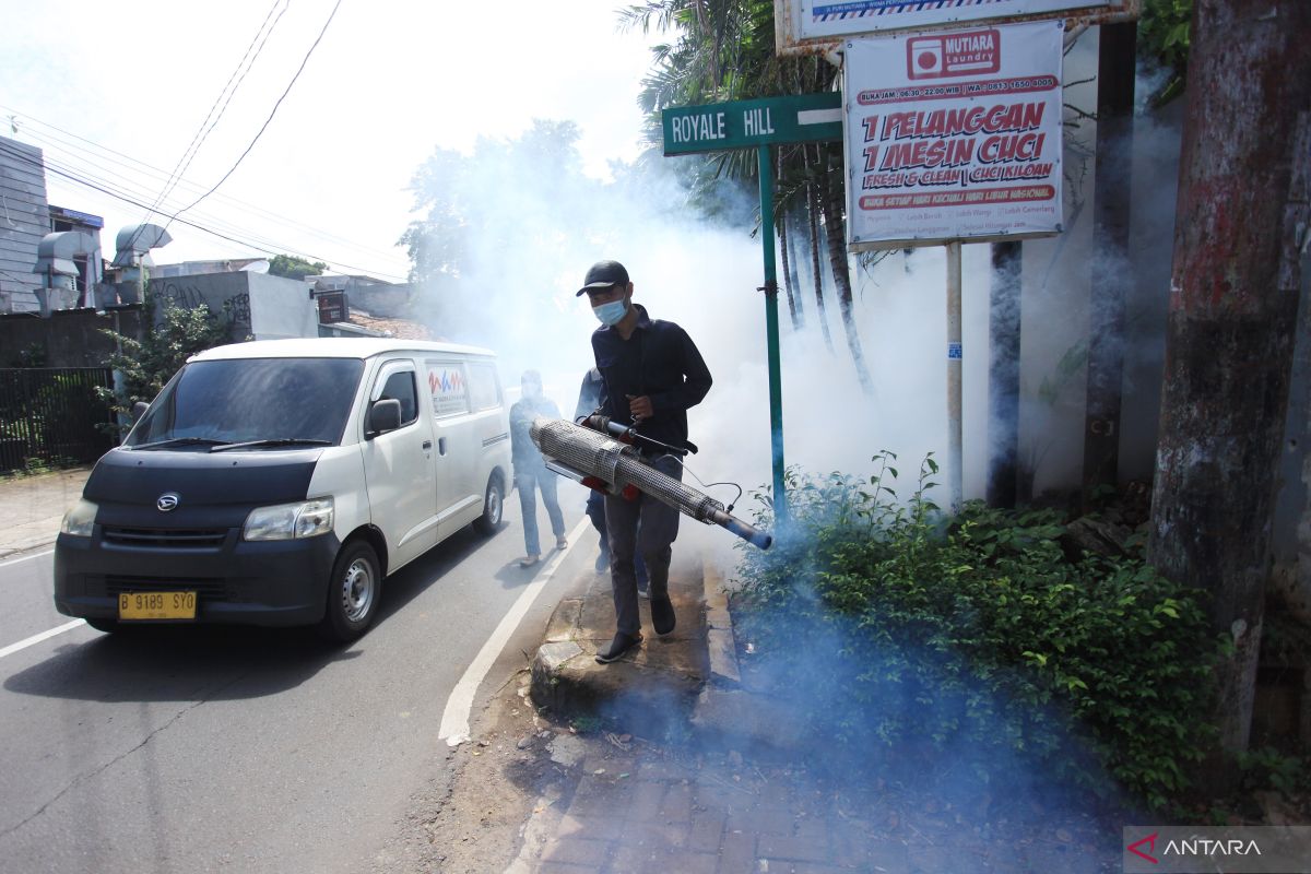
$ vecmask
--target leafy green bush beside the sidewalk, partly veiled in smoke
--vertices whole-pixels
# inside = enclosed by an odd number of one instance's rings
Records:
[[[789,470],[789,528],[741,566],[738,621],[762,654],[829,641],[821,670],[777,659],[812,727],[965,751],[985,780],[1017,756],[1100,793],[1109,773],[1154,807],[1177,798],[1209,736],[1196,714],[1219,646],[1198,592],[1138,560],[1068,561],[1051,510],[971,502],[948,519],[926,497],[932,456],[905,501],[895,456],[874,461],[868,482]]]

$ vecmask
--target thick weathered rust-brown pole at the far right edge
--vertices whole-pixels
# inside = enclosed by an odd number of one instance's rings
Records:
[[[1197,0],[1175,219],[1151,562],[1207,590],[1226,753],[1247,748],[1311,232],[1311,3]],[[1232,774],[1232,769],[1224,769]],[[1209,769],[1223,786],[1224,770]]]

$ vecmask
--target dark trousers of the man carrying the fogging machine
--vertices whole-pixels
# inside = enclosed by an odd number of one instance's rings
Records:
[[[663,474],[682,481],[683,465],[669,456],[650,463]],[[646,494],[636,501],[606,495],[606,529],[610,533],[610,584],[615,595],[616,629],[636,636],[641,630],[637,611],[635,558],[646,565],[652,600],[669,598],[669,563],[678,537],[678,510]]]

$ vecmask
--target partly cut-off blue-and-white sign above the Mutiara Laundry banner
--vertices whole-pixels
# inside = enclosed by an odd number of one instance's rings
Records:
[[[1071,18],[1113,24],[1138,18],[1141,0],[773,0],[780,55],[840,51],[856,37],[971,24]]]

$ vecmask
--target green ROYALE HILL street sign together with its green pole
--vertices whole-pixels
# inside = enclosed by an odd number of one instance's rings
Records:
[[[679,106],[661,113],[665,155],[755,148],[760,170],[760,245],[764,252],[764,325],[770,368],[770,446],[773,519],[788,516],[783,463],[783,373],[779,363],[779,282],[773,265],[773,160],[770,147],[842,139],[842,96],[785,94],[760,100]]]

